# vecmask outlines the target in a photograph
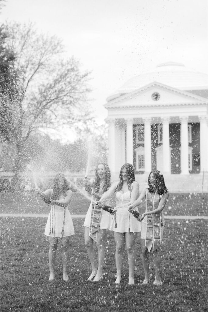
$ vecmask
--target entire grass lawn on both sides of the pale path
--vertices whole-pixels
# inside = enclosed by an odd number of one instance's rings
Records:
[[[85,214],[89,201],[75,194],[70,212]],[[207,194],[174,194],[167,203],[167,214],[207,215]],[[16,197],[3,193],[1,212],[48,213],[37,198],[22,193]],[[179,197],[180,196],[180,197]],[[175,197],[175,198],[173,198]],[[202,199],[204,198],[204,199]],[[178,205],[177,205],[178,203]],[[192,205],[192,206],[191,206]],[[168,209],[172,207],[172,209]],[[176,208],[177,207],[177,208]],[[180,213],[179,213],[180,211]],[[161,287],[151,282],[141,286],[144,278],[137,239],[135,285],[128,286],[127,254],[123,258],[123,279],[114,284],[115,242],[112,232],[106,241],[104,280],[93,284],[84,246],[84,219],[74,218],[75,235],[71,236],[68,272],[62,280],[60,249],[56,259],[56,279],[49,282],[48,241],[44,236],[46,218],[1,217],[1,311],[207,311],[207,221],[166,220],[162,244]],[[96,249],[95,249],[96,251]]]

